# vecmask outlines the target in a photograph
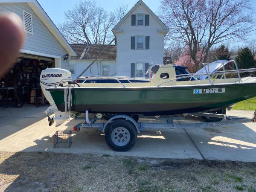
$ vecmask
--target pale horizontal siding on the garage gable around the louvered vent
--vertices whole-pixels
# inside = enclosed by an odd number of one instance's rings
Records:
[[[68,63],[62,56],[67,53],[44,23],[35,15],[27,3],[0,3],[0,12],[15,12],[22,19],[22,10],[32,15],[33,35],[26,33],[22,49],[49,55],[61,56],[61,68],[67,69]]]

